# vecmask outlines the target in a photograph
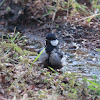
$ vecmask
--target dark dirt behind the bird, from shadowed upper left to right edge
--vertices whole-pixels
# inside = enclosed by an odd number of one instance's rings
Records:
[[[50,18],[40,17],[44,13],[43,11],[34,15],[35,11],[32,10],[32,7],[34,8],[34,5],[31,3],[22,5],[10,1],[5,2],[0,8],[0,33],[13,32],[16,27],[16,31],[26,34],[32,40],[35,36],[35,39],[37,37],[38,40],[39,37],[43,38],[47,33],[53,32],[66,43],[81,43],[82,46],[92,50],[100,48],[99,19],[93,19],[90,25],[83,21],[70,23],[62,16],[60,19],[56,18],[55,21],[52,21]]]

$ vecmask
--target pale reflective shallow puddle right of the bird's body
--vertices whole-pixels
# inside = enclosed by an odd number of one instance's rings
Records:
[[[64,57],[66,59],[66,65],[63,70],[77,72],[86,77],[96,75],[100,78],[99,53],[89,53],[87,50],[77,49],[74,53],[72,53],[72,50],[71,52],[68,51]]]

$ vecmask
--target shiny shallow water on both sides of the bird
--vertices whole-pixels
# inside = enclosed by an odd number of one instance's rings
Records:
[[[29,43],[24,46],[24,49],[37,52],[39,48],[43,47],[43,45],[43,42],[40,43],[34,40],[29,40]],[[89,50],[82,47],[80,44],[67,44],[64,41],[60,42],[59,47],[64,53],[64,57],[62,59],[63,68],[61,71],[78,73],[81,76],[85,76],[90,79],[94,75],[96,75],[98,79],[100,78],[100,52]],[[29,56],[29,58],[32,60],[34,56]],[[82,78],[79,78],[79,80],[81,79]]]

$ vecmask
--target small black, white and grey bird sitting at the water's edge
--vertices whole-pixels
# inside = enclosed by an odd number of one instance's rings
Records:
[[[51,67],[53,69],[62,68],[63,53],[58,48],[59,41],[55,34],[49,33],[46,36],[45,50],[39,57],[39,61],[44,64],[44,67]],[[43,50],[42,48],[41,50]],[[40,50],[40,52],[41,52]]]

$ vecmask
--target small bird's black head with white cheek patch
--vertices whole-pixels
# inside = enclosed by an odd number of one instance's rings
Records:
[[[46,36],[46,45],[52,45],[56,47],[58,45],[58,39],[55,34],[49,33]]]

